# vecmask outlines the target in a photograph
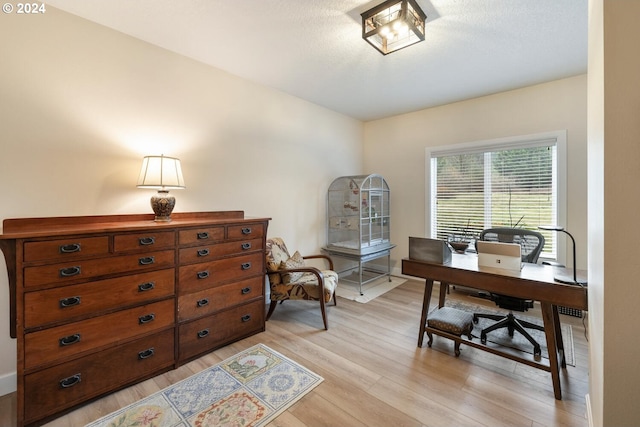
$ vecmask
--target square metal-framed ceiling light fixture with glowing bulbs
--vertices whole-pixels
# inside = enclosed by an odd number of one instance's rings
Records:
[[[362,38],[383,55],[424,40],[427,15],[415,0],[387,0],[362,16]]]

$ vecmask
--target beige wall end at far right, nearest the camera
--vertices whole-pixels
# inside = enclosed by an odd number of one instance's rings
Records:
[[[640,2],[589,2],[589,393],[596,426],[640,425]]]

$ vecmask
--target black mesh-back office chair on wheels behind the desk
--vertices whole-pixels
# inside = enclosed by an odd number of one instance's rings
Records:
[[[503,242],[503,243],[518,243],[520,245],[522,261],[529,263],[538,262],[538,257],[544,247],[544,236],[537,231],[525,230],[522,228],[490,228],[482,231],[478,240],[484,240],[489,242]],[[486,294],[485,294],[486,295]],[[507,328],[509,336],[513,337],[513,332],[518,331],[522,334],[532,345],[533,354],[536,356],[541,355],[540,344],[527,332],[525,328],[537,329],[544,331],[544,327],[530,323],[525,320],[517,319],[514,315],[514,311],[525,312],[529,308],[533,308],[533,300],[510,297],[507,295],[500,295],[490,293],[486,295],[486,298],[494,301],[500,308],[509,310],[509,314],[497,315],[497,314],[484,314],[474,313],[473,322],[478,323],[479,318],[486,318],[496,320],[493,325],[484,328],[480,332],[480,341],[484,344],[487,342],[487,334],[496,329]]]

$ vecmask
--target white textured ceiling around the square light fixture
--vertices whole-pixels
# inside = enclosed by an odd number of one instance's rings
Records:
[[[48,0],[157,46],[360,120],[587,72],[588,0],[417,0],[426,40],[362,39],[382,0]]]

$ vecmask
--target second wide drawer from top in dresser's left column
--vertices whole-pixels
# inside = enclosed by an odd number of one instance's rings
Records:
[[[175,294],[173,268],[26,292],[24,295],[25,329],[50,323],[78,319],[113,309],[126,308],[145,301],[159,300]]]

